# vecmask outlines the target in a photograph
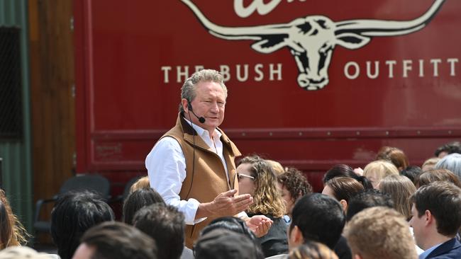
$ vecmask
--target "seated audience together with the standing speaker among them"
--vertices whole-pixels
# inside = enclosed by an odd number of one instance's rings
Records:
[[[363,170],[332,166],[318,193],[296,168],[238,158],[218,128],[226,98],[217,71],[184,82],[177,124],[146,157],[121,222],[94,192],[61,195],[57,255],[21,247],[28,234],[0,192],[0,259],[461,258],[460,142],[421,167],[384,146]]]

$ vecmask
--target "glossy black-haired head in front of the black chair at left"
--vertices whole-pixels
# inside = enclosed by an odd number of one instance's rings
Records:
[[[51,212],[51,237],[61,259],[70,259],[87,229],[115,219],[111,207],[96,192],[66,192]]]

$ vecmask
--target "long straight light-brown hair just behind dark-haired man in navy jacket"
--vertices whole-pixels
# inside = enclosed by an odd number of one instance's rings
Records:
[[[394,209],[404,215],[408,221],[411,219],[410,197],[416,192],[415,185],[403,175],[389,175],[379,183],[379,190],[391,195]]]

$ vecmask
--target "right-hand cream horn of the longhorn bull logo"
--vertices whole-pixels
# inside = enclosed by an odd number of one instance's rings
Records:
[[[434,4],[422,16],[411,21],[384,21],[384,20],[350,20],[335,23],[335,34],[358,33],[363,36],[396,36],[413,33],[426,26],[435,13],[438,12],[445,0],[435,0]]]

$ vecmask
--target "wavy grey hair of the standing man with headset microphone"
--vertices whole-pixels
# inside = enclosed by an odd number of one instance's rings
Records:
[[[223,76],[216,70],[213,69],[203,69],[200,71],[196,71],[194,74],[191,75],[181,88],[181,99],[186,99],[187,101],[191,102],[194,100],[196,96],[195,86],[200,81],[213,81],[218,83],[224,91],[224,98],[227,98],[227,87],[223,82]],[[184,109],[182,108],[182,103],[179,103],[179,112],[184,113]]]

